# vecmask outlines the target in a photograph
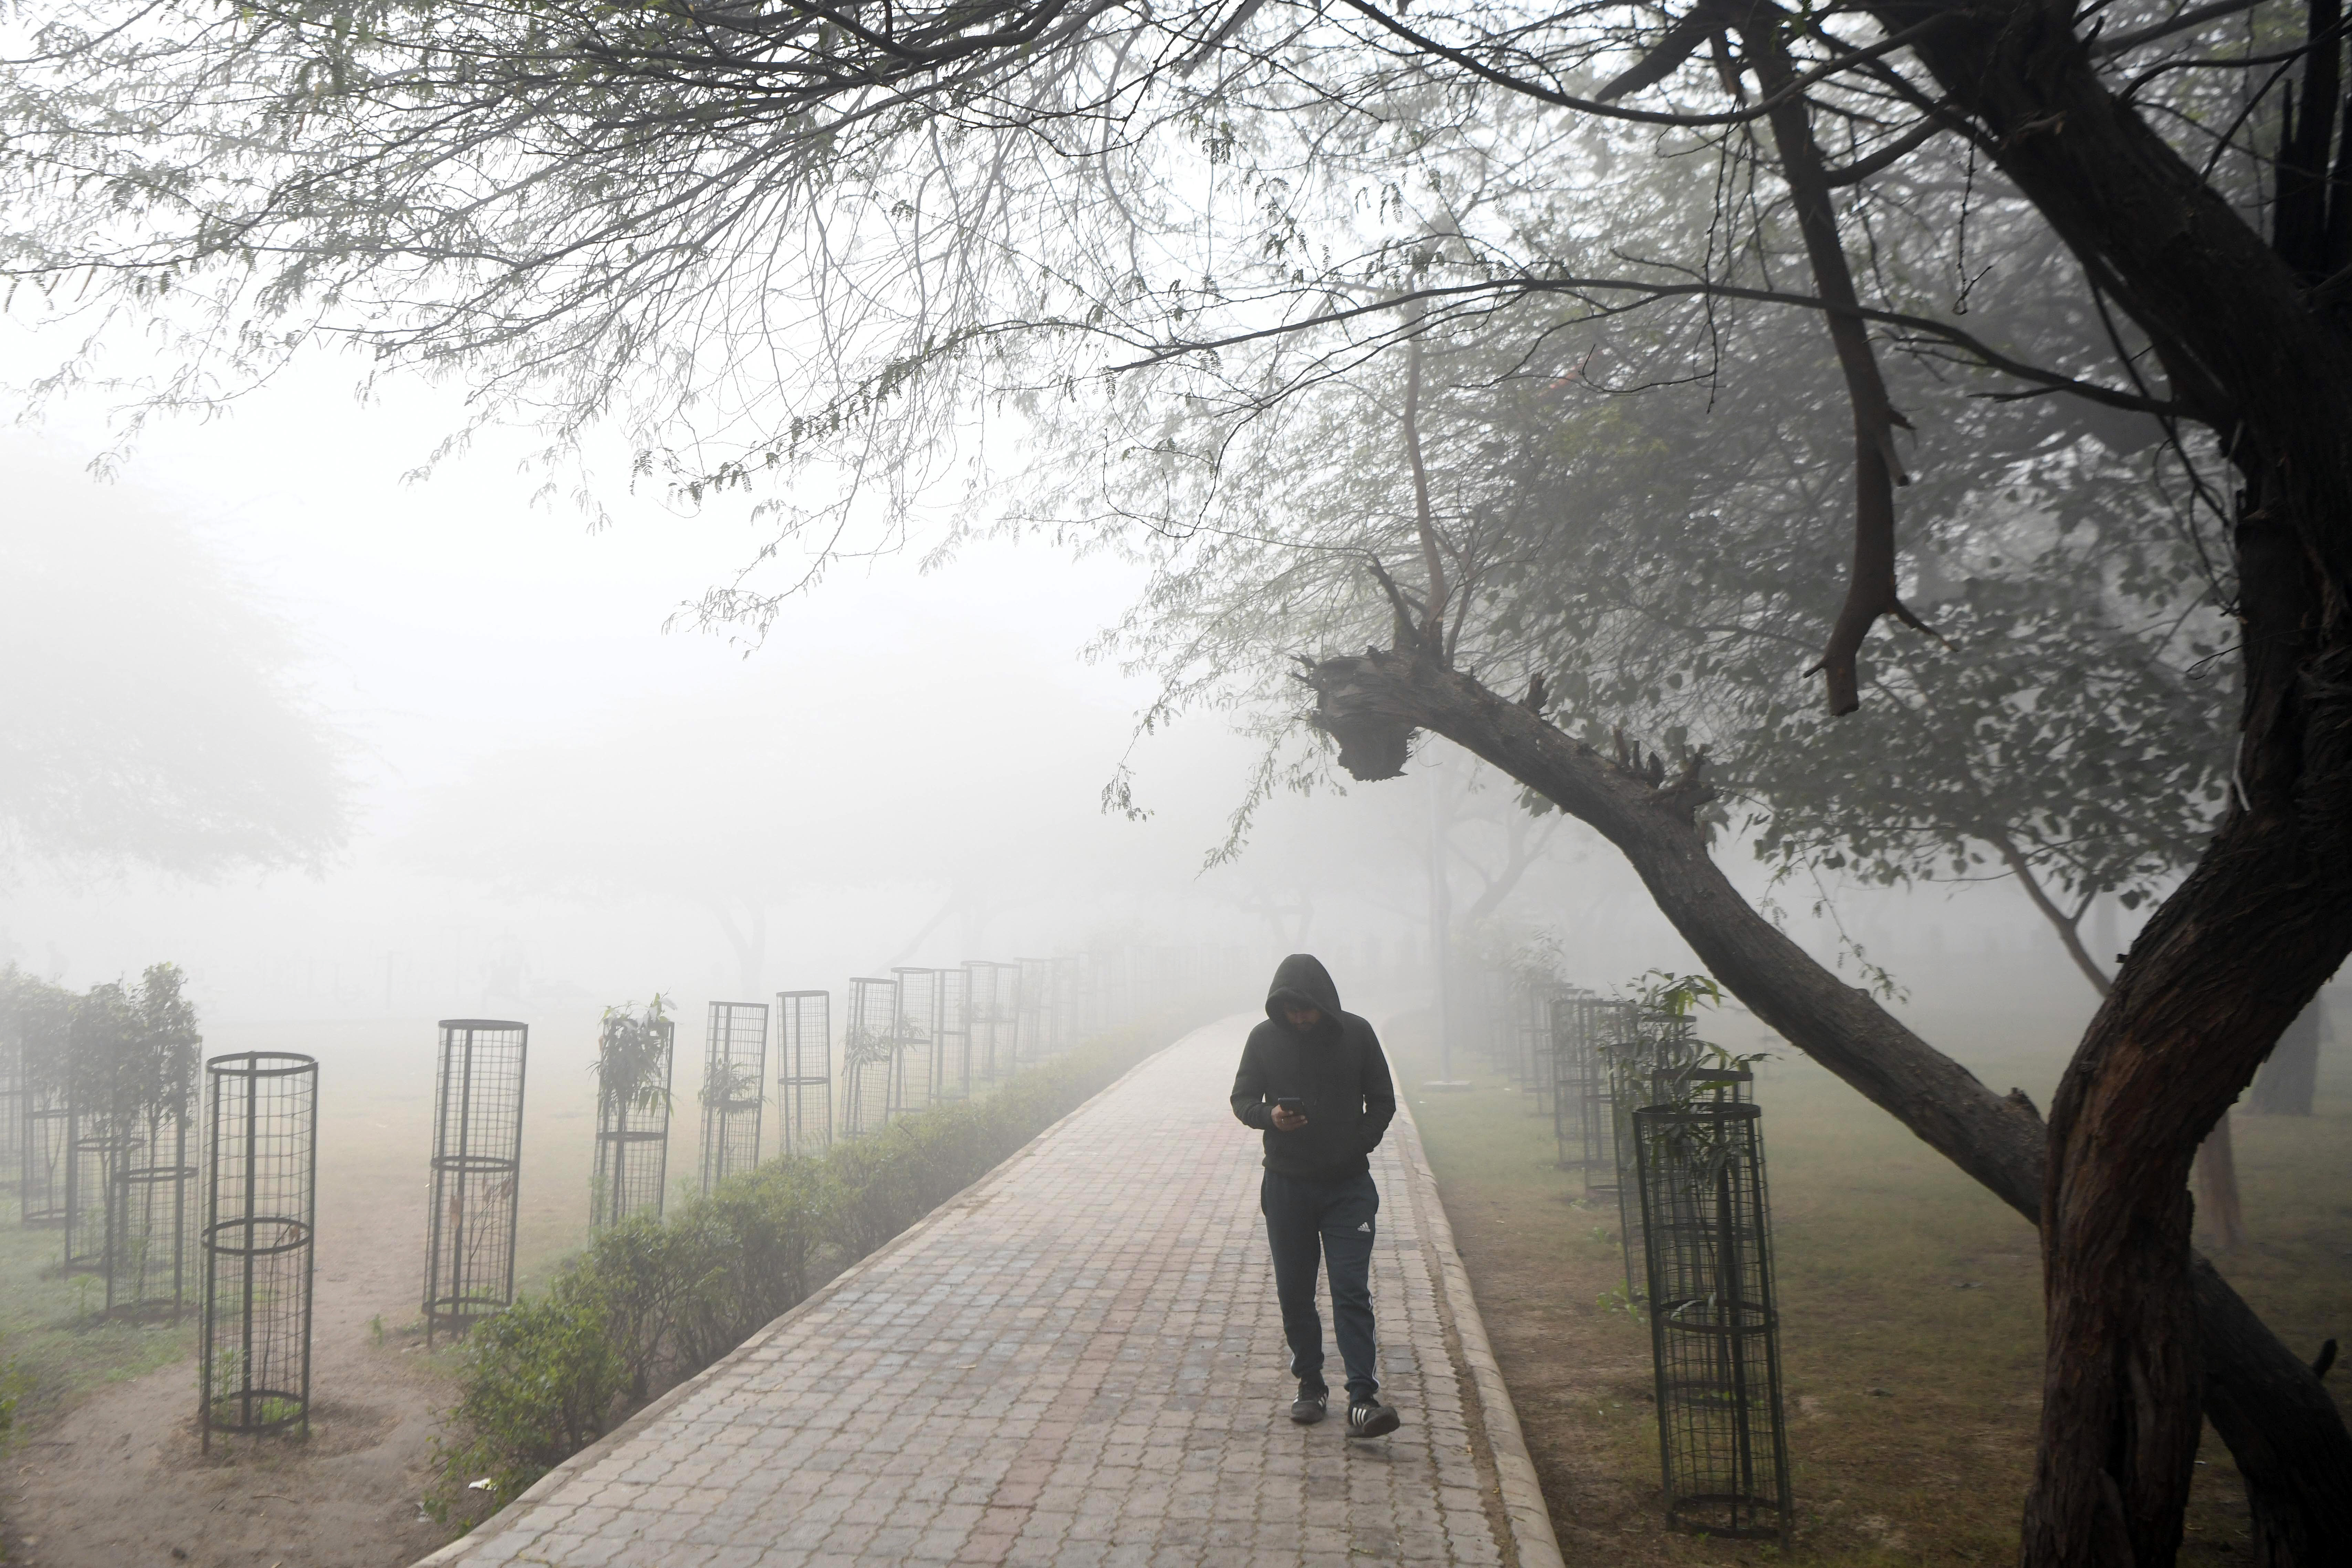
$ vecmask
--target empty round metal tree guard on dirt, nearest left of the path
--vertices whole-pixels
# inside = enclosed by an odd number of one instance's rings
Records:
[[[318,1063],[240,1051],[205,1063],[205,1345],[198,1418],[214,1432],[310,1429]]]

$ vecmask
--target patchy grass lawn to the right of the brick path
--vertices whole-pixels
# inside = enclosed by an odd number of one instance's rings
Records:
[[[1550,1117],[1479,1060],[1456,1063],[1472,1091],[1425,1093],[1428,1016],[1397,1020],[1388,1044],[1569,1561],[1780,1561],[1663,1528],[1649,1328],[1609,1305],[1625,1274],[1616,1206],[1557,1171]],[[2046,1077],[1987,1081],[2042,1100]],[[2011,1561],[2042,1380],[2032,1227],[1795,1053],[1762,1067],[1757,1100],[1795,1561]],[[2223,1269],[2298,1354],[2352,1338],[2352,1103],[2319,1110],[2234,1124],[2253,1241]],[[2244,1561],[2244,1544],[2230,1455],[2206,1434],[2183,1561]]]

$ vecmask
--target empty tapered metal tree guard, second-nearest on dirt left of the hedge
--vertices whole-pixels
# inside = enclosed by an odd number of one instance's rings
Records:
[[[515,1302],[522,1067],[529,1027],[442,1018],[426,1220],[426,1347]]]

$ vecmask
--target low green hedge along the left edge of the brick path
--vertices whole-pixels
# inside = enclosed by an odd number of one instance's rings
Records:
[[[938,1208],[1143,1056],[1143,1034],[1096,1041],[995,1093],[903,1117],[823,1159],[771,1159],[668,1220],[597,1232],[546,1295],[466,1342],[433,1497],[449,1519],[489,1479],[510,1500]]]

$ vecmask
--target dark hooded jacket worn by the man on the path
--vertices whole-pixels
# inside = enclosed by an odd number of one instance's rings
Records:
[[[1282,1004],[1322,1013],[1301,1034],[1282,1016]],[[1275,1100],[1305,1100],[1308,1124],[1296,1133],[1275,1131]],[[1294,952],[1275,969],[1265,994],[1265,1023],[1242,1046],[1242,1070],[1232,1074],[1232,1114],[1265,1133],[1265,1168],[1312,1180],[1369,1171],[1364,1157],[1381,1147],[1397,1114],[1397,1088],[1371,1025],[1338,1011],[1338,987],[1322,961]]]

